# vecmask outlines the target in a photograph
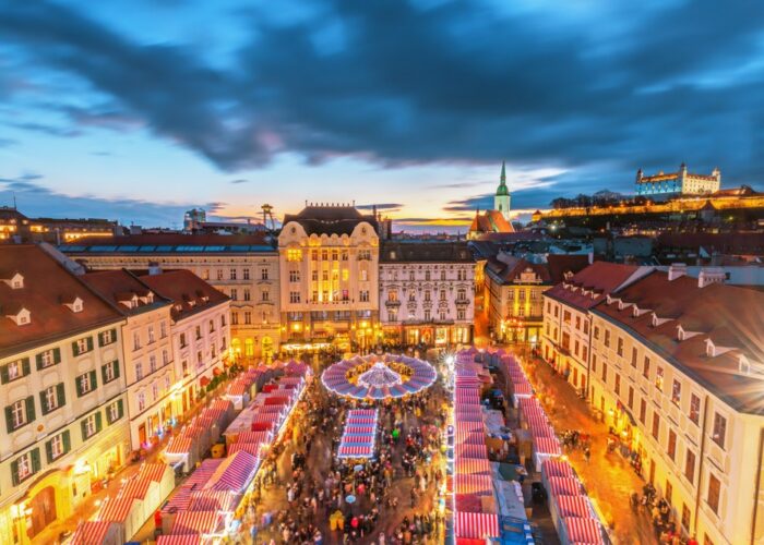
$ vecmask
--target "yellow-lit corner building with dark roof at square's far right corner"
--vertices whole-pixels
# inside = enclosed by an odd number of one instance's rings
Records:
[[[485,267],[488,325],[501,342],[541,344],[542,294],[588,265],[586,255],[553,255],[538,263],[500,253]]]

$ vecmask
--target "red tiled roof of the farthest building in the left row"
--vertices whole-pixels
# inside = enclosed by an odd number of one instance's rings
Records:
[[[140,279],[156,293],[172,301],[172,318],[176,320],[228,301],[225,293],[190,270],[146,275]]]

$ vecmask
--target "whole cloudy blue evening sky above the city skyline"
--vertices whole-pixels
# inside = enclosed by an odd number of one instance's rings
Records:
[[[719,167],[764,189],[764,2],[0,0],[0,205],[179,227],[306,201],[465,229]]]

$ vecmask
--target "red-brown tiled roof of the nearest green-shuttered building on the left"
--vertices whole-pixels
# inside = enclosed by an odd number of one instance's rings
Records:
[[[0,281],[0,356],[123,319],[38,246],[1,245],[0,263],[24,277],[24,287],[15,290]],[[82,299],[81,312],[61,303],[73,296]],[[21,307],[29,311],[31,323],[17,326],[7,315]]]

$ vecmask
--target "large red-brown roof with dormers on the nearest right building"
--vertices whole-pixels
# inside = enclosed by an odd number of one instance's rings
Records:
[[[741,354],[752,367],[764,363],[764,292],[721,283],[697,286],[694,278],[669,281],[666,272],[654,271],[612,295],[650,312],[634,316],[633,306],[619,311],[617,301],[594,312],[641,338],[736,410],[764,414],[764,379],[754,370],[740,370]],[[653,327],[653,314],[668,320]],[[680,341],[680,325],[697,335]],[[706,355],[708,339],[731,350]]]

